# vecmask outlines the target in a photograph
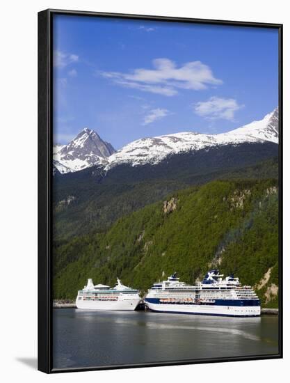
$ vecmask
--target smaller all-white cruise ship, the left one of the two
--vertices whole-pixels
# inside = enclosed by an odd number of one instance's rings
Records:
[[[76,297],[76,307],[85,310],[135,310],[139,302],[138,290],[122,285],[120,279],[114,288],[94,286],[92,279],[88,279],[87,286]]]

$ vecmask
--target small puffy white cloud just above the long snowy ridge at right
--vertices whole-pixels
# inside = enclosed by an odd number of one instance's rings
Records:
[[[195,114],[209,120],[229,120],[234,121],[234,113],[243,108],[234,98],[211,97],[204,102],[194,105]]]

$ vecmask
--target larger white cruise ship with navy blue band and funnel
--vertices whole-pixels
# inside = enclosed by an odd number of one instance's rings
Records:
[[[259,297],[250,286],[241,286],[233,275],[223,279],[217,269],[210,270],[202,282],[190,286],[177,274],[154,283],[145,297],[151,311],[196,315],[252,317],[261,314]]]

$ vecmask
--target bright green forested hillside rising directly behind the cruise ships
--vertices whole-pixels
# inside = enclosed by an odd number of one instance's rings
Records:
[[[275,160],[256,166],[241,169],[241,175],[266,175],[269,169],[277,175]],[[239,171],[227,175],[238,178]],[[74,299],[88,278],[113,285],[118,276],[145,291],[175,271],[193,283],[218,267],[255,286],[264,306],[277,306],[277,180],[216,180],[167,194],[124,211],[102,232],[57,242],[54,297]]]

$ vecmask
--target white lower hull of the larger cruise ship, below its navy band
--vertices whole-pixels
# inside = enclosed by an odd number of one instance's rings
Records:
[[[150,311],[159,313],[192,314],[192,315],[218,315],[229,317],[257,317],[261,315],[260,306],[217,306],[202,304],[159,304],[147,302]]]

